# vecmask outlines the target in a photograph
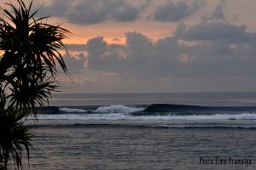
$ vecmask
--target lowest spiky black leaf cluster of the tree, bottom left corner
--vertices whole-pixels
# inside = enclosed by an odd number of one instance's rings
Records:
[[[3,167],[7,167],[9,154],[18,168],[22,166],[21,153],[24,149],[29,157],[32,132],[22,122],[25,116],[14,110],[0,110],[0,164]]]

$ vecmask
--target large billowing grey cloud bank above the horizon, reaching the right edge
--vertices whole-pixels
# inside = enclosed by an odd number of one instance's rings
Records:
[[[125,45],[92,38],[86,44],[88,68],[140,80],[256,76],[256,34],[244,26],[214,22],[180,28],[156,42],[139,32],[127,32]],[[188,45],[189,41],[195,44]]]

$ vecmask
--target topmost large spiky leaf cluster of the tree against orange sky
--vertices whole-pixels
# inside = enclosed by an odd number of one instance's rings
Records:
[[[20,64],[20,60],[29,65],[44,62],[49,66],[51,73],[55,73],[57,61],[62,70],[67,72],[65,62],[57,50],[65,48],[62,39],[67,37],[69,32],[61,26],[43,23],[45,17],[35,20],[33,16],[36,13],[30,14],[30,8],[26,8],[22,1],[18,2],[20,8],[9,4],[13,13],[3,9],[9,21],[0,19],[0,50],[6,52],[3,59],[14,59],[15,64]],[[6,69],[12,66],[11,64],[7,64]]]

